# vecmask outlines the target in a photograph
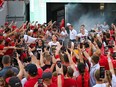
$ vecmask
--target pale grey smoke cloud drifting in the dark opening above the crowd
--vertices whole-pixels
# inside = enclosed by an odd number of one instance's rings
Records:
[[[67,4],[65,6],[65,21],[71,23],[78,32],[82,24],[89,31],[98,23],[103,23],[105,17],[99,11],[89,10],[83,4]]]

